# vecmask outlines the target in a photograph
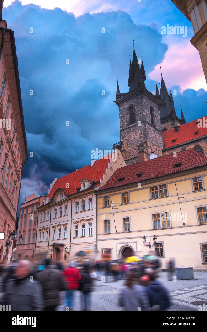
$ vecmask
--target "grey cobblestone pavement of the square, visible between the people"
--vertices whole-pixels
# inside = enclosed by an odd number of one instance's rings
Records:
[[[207,302],[207,273],[194,272],[194,280],[168,281],[167,273],[160,273],[159,281],[169,290],[171,306],[168,310],[198,310],[193,301]],[[101,282],[96,281],[92,292],[91,310],[121,310],[117,307],[118,292],[124,281]],[[63,294],[63,293],[62,293]],[[82,293],[75,292],[73,310],[81,310]],[[57,310],[66,310],[64,300]]]

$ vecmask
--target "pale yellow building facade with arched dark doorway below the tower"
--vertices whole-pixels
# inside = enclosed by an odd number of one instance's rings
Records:
[[[149,162],[140,164],[144,168]],[[133,184],[118,181],[119,186],[106,185],[96,193],[100,259],[143,256],[149,253],[143,237],[153,244],[155,235],[157,243],[151,252],[160,257],[163,269],[172,257],[178,267],[207,269],[206,165],[146,181],[138,178]]]

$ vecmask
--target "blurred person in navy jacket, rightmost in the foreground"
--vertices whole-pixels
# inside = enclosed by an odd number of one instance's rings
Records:
[[[155,280],[154,272],[149,273],[148,276],[149,282],[146,291],[151,310],[166,310],[170,305],[168,291],[159,281]]]

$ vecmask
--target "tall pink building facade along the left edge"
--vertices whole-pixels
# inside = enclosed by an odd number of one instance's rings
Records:
[[[23,167],[28,158],[14,32],[0,20],[0,264],[12,257],[5,245],[15,230]],[[3,48],[3,50],[2,50]]]

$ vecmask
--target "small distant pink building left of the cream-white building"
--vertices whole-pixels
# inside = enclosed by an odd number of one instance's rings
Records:
[[[38,220],[38,207],[43,203],[42,197],[32,194],[25,198],[21,204],[17,239],[22,235],[22,244],[14,249],[15,259],[33,260],[36,248],[36,230]],[[20,242],[18,242],[20,243]]]

